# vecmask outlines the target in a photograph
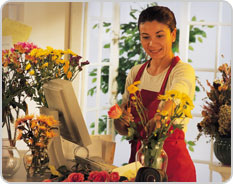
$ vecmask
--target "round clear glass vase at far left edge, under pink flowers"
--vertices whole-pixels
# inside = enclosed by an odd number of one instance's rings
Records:
[[[4,178],[12,177],[20,167],[20,154],[16,147],[2,146],[2,175]]]

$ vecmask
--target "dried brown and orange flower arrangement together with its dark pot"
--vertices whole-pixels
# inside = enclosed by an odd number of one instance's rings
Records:
[[[199,134],[214,140],[214,153],[225,165],[231,165],[231,67],[223,64],[218,68],[221,78],[213,84],[207,81],[210,91],[202,110],[202,121],[197,124]],[[204,89],[205,90],[205,89]]]

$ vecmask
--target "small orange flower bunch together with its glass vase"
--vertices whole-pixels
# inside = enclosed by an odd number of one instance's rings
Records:
[[[30,148],[24,157],[24,164],[29,176],[43,174],[48,168],[47,146],[49,139],[56,136],[58,122],[53,117],[26,115],[15,121],[18,132],[17,140],[23,140]]]

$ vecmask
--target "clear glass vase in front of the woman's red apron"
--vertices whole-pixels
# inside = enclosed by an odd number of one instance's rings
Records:
[[[150,176],[151,181],[167,181],[168,156],[163,149],[163,143],[151,144],[142,142],[141,148],[136,153],[136,161],[139,161],[143,167],[155,169],[158,175],[160,175],[160,179]]]

